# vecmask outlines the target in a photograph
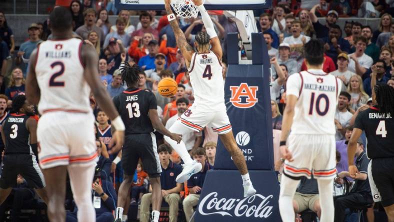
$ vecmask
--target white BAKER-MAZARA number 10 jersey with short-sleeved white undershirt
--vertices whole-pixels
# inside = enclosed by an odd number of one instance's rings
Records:
[[[286,94],[298,97],[291,133],[335,134],[335,109],[341,81],[321,69],[308,69],[290,75]]]

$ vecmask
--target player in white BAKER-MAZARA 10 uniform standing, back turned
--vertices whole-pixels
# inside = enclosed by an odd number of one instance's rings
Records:
[[[307,71],[288,77],[280,151],[284,168],[279,211],[283,221],[294,221],[292,199],[302,177],[317,179],[321,222],[333,221],[335,169],[334,115],[341,81],[323,72],[323,44],[311,39],[304,45]],[[286,146],[287,135],[288,148]]]

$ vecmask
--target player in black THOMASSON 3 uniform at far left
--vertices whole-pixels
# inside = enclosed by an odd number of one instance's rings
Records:
[[[34,106],[26,101],[24,95],[17,95],[12,100],[12,113],[2,123],[1,137],[5,153],[0,174],[0,204],[16,185],[18,174],[48,204],[44,176],[33,153],[33,149],[37,147],[37,121],[30,118],[32,115]]]

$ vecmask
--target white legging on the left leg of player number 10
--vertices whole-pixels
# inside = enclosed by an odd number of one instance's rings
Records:
[[[285,175],[280,181],[279,212],[282,221],[294,221],[293,197],[299,180],[291,179]]]

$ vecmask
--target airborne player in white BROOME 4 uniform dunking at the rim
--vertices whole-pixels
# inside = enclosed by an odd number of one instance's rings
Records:
[[[170,127],[171,132],[180,134],[191,130],[200,131],[206,125],[212,127],[219,134],[220,140],[230,153],[236,167],[242,176],[243,196],[253,195],[256,190],[249,178],[246,162],[242,151],[237,146],[232,134],[231,124],[226,113],[224,104],[224,82],[222,78],[221,57],[222,50],[219,38],[213,28],[212,20],[206,12],[201,0],[192,0],[198,6],[206,32],[198,32],[195,35],[195,52],[179,28],[175,15],[172,13],[170,0],[164,0],[168,21],[175,34],[176,44],[179,47],[188,67],[190,82],[194,90],[194,103],[180,118]],[[211,49],[209,49],[211,46]],[[176,177],[176,182],[186,181],[192,174],[201,170],[201,163],[193,161],[186,150],[183,141],[176,144],[164,136],[173,149],[184,161],[182,172]]]

